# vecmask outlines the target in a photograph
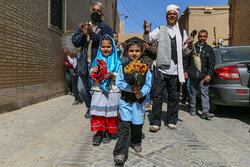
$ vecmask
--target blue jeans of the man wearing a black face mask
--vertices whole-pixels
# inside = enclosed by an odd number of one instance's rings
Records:
[[[80,98],[84,101],[86,107],[89,109],[91,105],[91,94],[90,94],[90,84],[89,84],[89,75],[86,76],[79,75],[77,88],[79,91]]]

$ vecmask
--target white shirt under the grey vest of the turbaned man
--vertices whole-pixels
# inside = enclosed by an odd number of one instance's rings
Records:
[[[170,35],[171,38],[175,37],[175,29],[177,28],[176,25],[169,26],[166,25],[168,29],[168,34]],[[159,34],[160,34],[160,28],[154,29],[152,32],[148,34],[143,34],[143,39],[147,43],[153,43],[153,42],[158,42],[159,40]],[[185,30],[183,30],[183,42],[182,42],[182,50],[184,54],[189,54],[191,50],[187,47],[186,40],[188,36]],[[156,61],[153,63],[154,65],[156,64]],[[177,75],[177,64],[174,64],[174,61],[171,60],[170,68],[167,69],[159,69],[162,73],[168,74],[168,75]]]

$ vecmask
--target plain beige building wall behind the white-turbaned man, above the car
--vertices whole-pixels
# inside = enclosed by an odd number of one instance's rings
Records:
[[[211,13],[205,13],[205,8],[212,8]],[[192,30],[208,31],[207,43],[213,46],[214,27],[216,27],[217,37],[223,38],[228,44],[229,38],[229,6],[189,6],[179,19],[180,26],[190,34]],[[197,41],[197,36],[196,39]]]

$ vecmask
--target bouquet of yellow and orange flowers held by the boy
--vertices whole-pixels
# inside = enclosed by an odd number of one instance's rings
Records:
[[[125,68],[124,72],[131,74],[133,87],[138,87],[143,83],[144,75],[148,71],[149,67],[146,64],[141,63],[140,61],[132,61]]]

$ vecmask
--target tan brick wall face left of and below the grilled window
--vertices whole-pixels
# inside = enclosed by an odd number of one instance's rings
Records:
[[[61,35],[48,1],[0,0],[0,104],[65,92]]]

